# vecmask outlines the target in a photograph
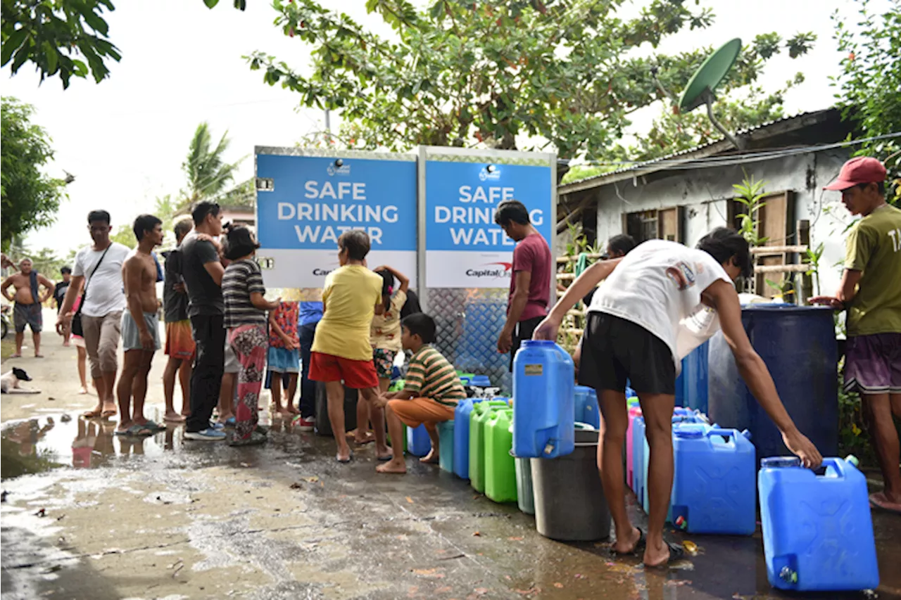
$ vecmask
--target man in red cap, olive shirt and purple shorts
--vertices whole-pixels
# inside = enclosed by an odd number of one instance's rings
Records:
[[[885,491],[870,503],[901,514],[901,448],[892,415],[901,417],[901,210],[886,204],[886,168],[859,157],[826,189],[862,218],[848,237],[842,285],[811,302],[848,311],[845,388],[856,390],[876,450]]]

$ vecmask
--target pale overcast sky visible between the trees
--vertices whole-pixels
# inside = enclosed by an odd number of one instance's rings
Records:
[[[718,46],[736,36],[751,41],[760,32],[777,31],[784,37],[815,32],[819,40],[811,54],[772,60],[763,83],[773,89],[796,71],[804,71],[805,84],[787,97],[787,113],[816,110],[833,103],[827,77],[837,72],[840,59],[830,15],[839,9],[852,18],[855,4],[701,0],[701,5],[714,9],[714,26],[681,33],[660,51]],[[296,94],[263,84],[260,73],[250,71],[241,59],[252,50],[264,50],[303,67],[308,62],[303,42],[286,38],[272,24],[276,14],[267,1],[249,0],[244,13],[231,5],[231,0],[222,0],[210,11],[201,0],[116,3],[107,21],[123,59],[110,64],[111,77],[99,85],[73,78],[63,91],[57,77],[39,86],[27,64],[14,77],[9,77],[8,66],[4,69],[0,95],[33,105],[34,122],[53,139],[56,159],[50,174],[63,177],[66,169],[76,176],[57,223],[27,236],[32,249],[49,247],[65,256],[89,241],[85,227],[89,210],[109,210],[115,226],[149,211],[157,195],[177,193],[184,186],[181,162],[202,121],[210,123],[216,138],[228,130],[232,138],[228,159],[248,157],[239,181],[253,174],[254,145],[292,146],[305,134],[323,130],[321,112],[298,110]],[[360,21],[381,25],[378,17],[366,15],[364,0],[342,0],[341,5]],[[385,31],[384,26],[379,30]]]

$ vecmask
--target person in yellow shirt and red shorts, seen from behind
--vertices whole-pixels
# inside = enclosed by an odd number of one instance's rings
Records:
[[[325,277],[323,319],[316,326],[310,355],[310,379],[325,384],[329,421],[338,443],[338,462],[350,462],[344,436],[344,386],[359,390],[358,402],[369,403],[369,420],[376,435],[379,460],[391,459],[385,443],[385,413],[374,405],[378,376],[372,362],[369,326],[382,303],[382,277],[366,268],[369,235],[354,230],[338,238],[340,268]],[[343,382],[343,384],[341,383]]]

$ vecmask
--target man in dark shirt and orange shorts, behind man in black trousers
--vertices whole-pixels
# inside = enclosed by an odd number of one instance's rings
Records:
[[[191,367],[196,344],[187,318],[187,291],[181,277],[181,249],[178,247],[194,227],[190,219],[175,224],[176,249],[165,253],[166,269],[163,278],[163,314],[166,320],[166,354],[168,362],[163,371],[163,395],[166,416],[170,423],[181,423],[191,413]],[[181,413],[173,403],[175,377],[181,383]]]

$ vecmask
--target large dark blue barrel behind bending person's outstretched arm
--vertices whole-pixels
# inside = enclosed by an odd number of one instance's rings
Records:
[[[747,305],[742,324],[786,410],[824,456],[838,453],[838,350],[828,307]],[[710,340],[710,418],[751,432],[757,459],[789,454],[782,435],[745,386],[718,332]]]

